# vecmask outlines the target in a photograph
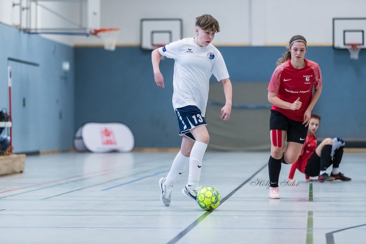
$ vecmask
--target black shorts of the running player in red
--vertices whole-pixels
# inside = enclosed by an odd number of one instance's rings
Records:
[[[284,116],[282,113],[271,109],[271,116],[269,119],[269,129],[280,129],[287,131],[287,142],[297,142],[304,144],[307,129],[302,121],[295,121]]]

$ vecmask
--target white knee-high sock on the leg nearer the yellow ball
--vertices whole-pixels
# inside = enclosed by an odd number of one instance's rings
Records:
[[[189,157],[189,175],[188,175],[188,185],[190,189],[195,189],[198,187],[199,177],[201,176],[202,158],[205,154],[207,144],[203,142],[195,142],[191,155]]]

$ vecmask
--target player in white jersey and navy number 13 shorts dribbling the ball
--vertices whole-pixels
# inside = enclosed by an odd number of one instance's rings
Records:
[[[221,118],[228,120],[231,113],[232,86],[229,74],[221,53],[211,44],[215,33],[220,31],[219,23],[211,15],[202,15],[196,18],[195,26],[196,37],[172,42],[152,52],[157,86],[164,87],[163,75],[159,70],[161,56],[175,60],[173,108],[178,117],[179,134],[183,136],[180,151],[167,177],[159,180],[161,202],[165,206],[170,205],[173,184],[188,162],[188,183],[182,192],[188,198],[196,200],[202,158],[210,139],[204,117],[212,74],[224,86],[226,103],[221,109]]]

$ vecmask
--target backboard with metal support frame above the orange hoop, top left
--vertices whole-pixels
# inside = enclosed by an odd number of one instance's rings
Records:
[[[19,0],[13,13],[30,34],[90,35],[100,29],[101,0]]]

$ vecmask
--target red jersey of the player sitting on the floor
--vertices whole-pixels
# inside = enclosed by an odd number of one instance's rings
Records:
[[[302,146],[300,156],[296,162],[291,165],[290,174],[288,174],[288,179],[294,179],[295,170],[298,169],[301,173],[305,174],[305,168],[307,161],[313,155],[315,149],[317,148],[317,138],[315,134],[312,136],[307,135],[305,143]]]

